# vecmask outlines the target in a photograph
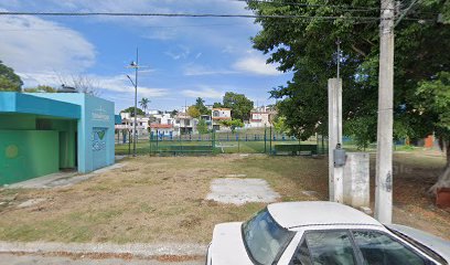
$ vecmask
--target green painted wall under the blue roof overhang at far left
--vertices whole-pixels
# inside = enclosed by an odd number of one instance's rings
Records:
[[[0,130],[0,184],[60,170],[57,131]]]

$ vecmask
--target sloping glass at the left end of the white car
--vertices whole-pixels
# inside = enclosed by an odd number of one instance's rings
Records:
[[[292,239],[293,232],[281,227],[267,209],[243,224],[244,243],[257,264],[272,264]]]

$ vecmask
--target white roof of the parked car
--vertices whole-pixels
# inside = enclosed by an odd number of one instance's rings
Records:
[[[383,226],[372,216],[336,202],[279,202],[269,204],[267,209],[275,221],[286,229],[314,225]]]

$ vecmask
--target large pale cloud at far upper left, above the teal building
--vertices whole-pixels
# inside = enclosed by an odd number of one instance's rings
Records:
[[[0,60],[17,72],[77,73],[95,63],[95,47],[82,34],[36,17],[0,17]]]

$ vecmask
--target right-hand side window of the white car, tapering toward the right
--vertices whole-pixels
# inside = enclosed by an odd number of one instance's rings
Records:
[[[367,265],[425,265],[422,256],[390,236],[375,231],[353,231],[353,237]]]

